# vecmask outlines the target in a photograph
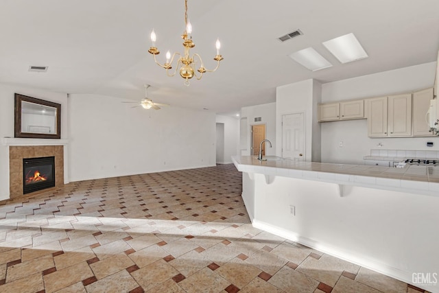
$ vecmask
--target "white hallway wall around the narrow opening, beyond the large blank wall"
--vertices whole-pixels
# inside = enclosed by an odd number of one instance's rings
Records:
[[[223,159],[222,161],[217,160],[217,163],[231,164],[231,156],[239,154],[239,119],[238,117],[216,115],[215,120],[217,124],[224,125]]]

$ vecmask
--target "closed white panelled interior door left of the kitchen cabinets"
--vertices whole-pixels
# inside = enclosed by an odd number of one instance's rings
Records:
[[[305,114],[282,115],[282,157],[305,161]]]

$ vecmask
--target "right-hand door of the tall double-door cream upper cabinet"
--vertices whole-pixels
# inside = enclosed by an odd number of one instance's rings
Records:
[[[412,136],[412,94],[391,95],[388,97],[388,135],[389,137]]]

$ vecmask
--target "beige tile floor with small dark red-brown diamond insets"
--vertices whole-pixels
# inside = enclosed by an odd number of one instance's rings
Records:
[[[0,292],[423,292],[250,224],[234,165],[0,204]]]

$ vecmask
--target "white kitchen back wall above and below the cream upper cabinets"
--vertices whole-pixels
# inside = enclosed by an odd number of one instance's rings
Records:
[[[322,103],[408,93],[433,86],[436,62],[322,85]],[[370,150],[439,150],[439,137],[368,138],[366,119],[321,124],[322,162],[363,164]],[[343,147],[339,147],[343,141]],[[427,148],[427,141],[434,147]],[[381,143],[381,148],[377,145]]]

